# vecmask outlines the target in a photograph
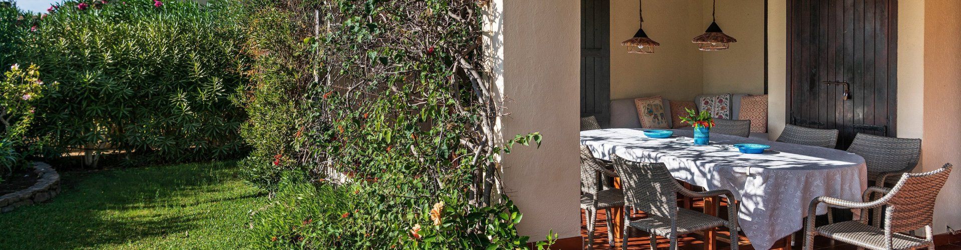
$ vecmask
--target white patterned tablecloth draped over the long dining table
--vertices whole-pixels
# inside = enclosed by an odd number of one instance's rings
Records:
[[[755,249],[798,230],[807,206],[826,195],[859,201],[867,188],[867,168],[858,155],[836,149],[711,134],[710,145],[693,145],[692,131],[649,138],[640,129],[580,132],[580,143],[594,156],[614,154],[634,162],[664,162],[675,178],[707,188],[728,189],[740,200],[739,223]],[[771,145],[764,154],[742,154],[736,143]],[[748,172],[750,171],[750,175]],[[824,214],[825,208],[818,208]]]

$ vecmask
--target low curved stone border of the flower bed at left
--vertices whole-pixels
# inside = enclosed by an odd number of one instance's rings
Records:
[[[48,201],[61,192],[60,174],[49,164],[34,162],[34,173],[37,173],[37,184],[33,187],[0,196],[0,213]]]

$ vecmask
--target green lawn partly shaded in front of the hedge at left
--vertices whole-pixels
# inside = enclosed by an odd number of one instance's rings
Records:
[[[266,196],[235,162],[62,174],[52,202],[0,213],[0,248],[245,248],[247,213]]]

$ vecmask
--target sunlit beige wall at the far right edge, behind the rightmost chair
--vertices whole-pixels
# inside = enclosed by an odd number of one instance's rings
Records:
[[[938,195],[934,232],[961,227],[961,5],[955,0],[924,4],[924,171],[955,164],[948,184]],[[899,19],[900,21],[900,19]],[[900,55],[899,55],[900,56]],[[900,67],[901,64],[899,64]],[[899,82],[900,83],[900,82]]]

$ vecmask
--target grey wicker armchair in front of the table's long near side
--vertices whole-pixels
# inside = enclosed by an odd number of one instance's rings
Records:
[[[621,246],[628,249],[629,228],[651,233],[651,248],[657,248],[657,236],[671,240],[671,250],[678,248],[678,236],[697,231],[714,230],[720,226],[730,229],[731,236],[737,235],[737,206],[734,202],[727,203],[727,220],[704,213],[678,208],[678,192],[684,196],[704,198],[725,195],[733,199],[730,190],[719,189],[696,192],[683,188],[671,176],[671,172],[664,163],[631,162],[623,158],[614,157],[614,168],[621,175],[624,187],[625,211],[643,211],[647,217],[637,220],[630,219],[630,213],[624,213],[624,241]],[[731,244],[731,250],[737,250],[737,244]]]

